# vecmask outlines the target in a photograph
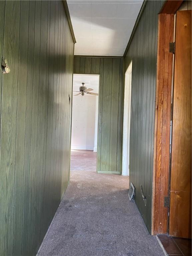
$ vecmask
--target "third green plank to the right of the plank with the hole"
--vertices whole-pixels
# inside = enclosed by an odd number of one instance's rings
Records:
[[[36,193],[36,163],[37,163],[37,130],[39,104],[39,58],[40,58],[40,27],[41,2],[35,2],[34,56],[33,56],[33,92],[32,92],[32,122],[31,122],[31,158],[30,158],[30,186],[29,186],[29,226],[28,249],[33,251],[34,223],[35,223],[35,193]]]

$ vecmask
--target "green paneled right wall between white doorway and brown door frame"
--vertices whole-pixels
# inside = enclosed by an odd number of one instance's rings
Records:
[[[151,232],[158,13],[164,1],[147,1],[124,59],[132,60],[130,182],[135,202]],[[146,200],[143,200],[143,195]]]

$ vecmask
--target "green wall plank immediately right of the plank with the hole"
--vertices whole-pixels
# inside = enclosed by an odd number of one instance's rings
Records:
[[[19,71],[15,155],[15,199],[14,199],[14,244],[13,254],[22,254],[22,222],[23,222],[23,185],[25,156],[25,121],[27,97],[27,62],[28,62],[28,30],[29,2],[21,2],[20,35],[19,35]]]

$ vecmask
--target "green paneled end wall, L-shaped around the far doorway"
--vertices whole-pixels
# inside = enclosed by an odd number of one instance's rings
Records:
[[[97,172],[121,174],[123,58],[74,57],[74,74],[99,74]]]

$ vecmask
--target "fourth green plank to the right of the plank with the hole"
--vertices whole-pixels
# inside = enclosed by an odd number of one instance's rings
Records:
[[[35,224],[33,251],[39,247],[41,212],[42,212],[42,178],[43,178],[43,151],[45,138],[45,95],[46,95],[46,44],[47,44],[47,15],[48,4],[41,2],[41,27],[40,27],[40,59],[39,59],[39,106],[37,128],[37,163],[36,163],[36,191],[35,191]]]

